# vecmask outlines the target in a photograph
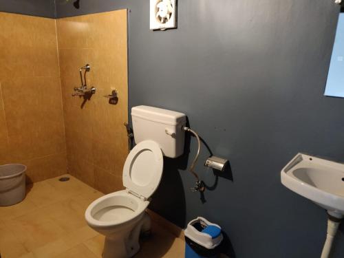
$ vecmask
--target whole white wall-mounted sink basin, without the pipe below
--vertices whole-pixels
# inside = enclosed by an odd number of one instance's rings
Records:
[[[282,169],[281,182],[333,217],[344,217],[344,164],[299,153]]]

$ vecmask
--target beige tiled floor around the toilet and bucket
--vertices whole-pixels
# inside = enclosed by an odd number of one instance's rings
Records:
[[[71,175],[28,186],[23,202],[0,207],[1,258],[101,257],[103,236],[87,226],[87,206],[103,195]],[[135,257],[183,257],[184,241],[153,223]]]

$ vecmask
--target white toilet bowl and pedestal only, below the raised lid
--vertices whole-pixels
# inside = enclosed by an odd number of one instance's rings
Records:
[[[149,201],[127,191],[110,193],[92,202],[85,212],[87,224],[105,235],[104,258],[132,257],[140,249],[141,232],[151,228]]]

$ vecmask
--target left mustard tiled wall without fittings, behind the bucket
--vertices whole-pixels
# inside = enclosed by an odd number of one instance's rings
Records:
[[[56,21],[0,12],[0,164],[28,182],[66,171]]]

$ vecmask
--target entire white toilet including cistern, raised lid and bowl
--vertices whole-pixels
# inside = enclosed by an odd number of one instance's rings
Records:
[[[163,155],[177,158],[184,152],[185,114],[138,106],[131,118],[136,147],[125,160],[125,190],[98,198],[85,211],[87,224],[105,235],[104,258],[133,257],[140,250],[140,234],[151,228],[146,209],[162,178]]]

